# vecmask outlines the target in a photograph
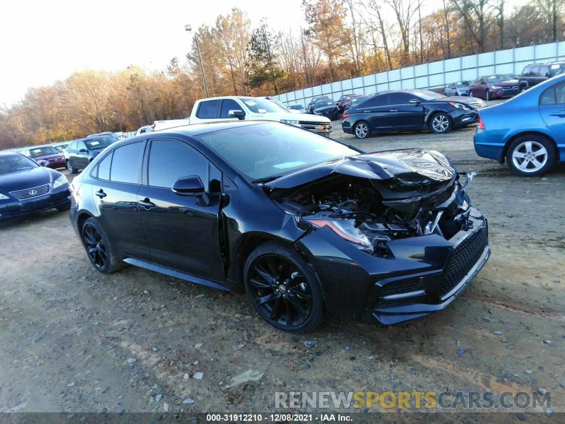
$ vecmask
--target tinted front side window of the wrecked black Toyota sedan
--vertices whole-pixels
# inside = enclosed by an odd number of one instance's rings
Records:
[[[208,161],[203,155],[178,140],[153,140],[149,151],[147,183],[170,189],[179,178],[198,175],[206,184]]]

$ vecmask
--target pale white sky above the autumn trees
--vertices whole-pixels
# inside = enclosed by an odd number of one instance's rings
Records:
[[[509,0],[507,10],[525,1]],[[301,5],[302,0],[6,0],[0,14],[0,105],[18,102],[29,87],[85,69],[118,71],[135,64],[163,70],[190,48],[192,33],[184,31],[185,24],[193,31],[214,25],[216,16],[234,6],[247,12],[252,27],[266,18],[276,31],[298,32],[306,25]]]

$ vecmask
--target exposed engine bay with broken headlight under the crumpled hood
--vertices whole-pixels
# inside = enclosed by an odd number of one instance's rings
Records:
[[[282,209],[313,227],[329,226],[357,248],[386,256],[386,243],[437,234],[449,240],[466,229],[470,201],[459,175],[443,181],[410,172],[397,178],[367,179],[334,174],[301,187],[277,190]]]

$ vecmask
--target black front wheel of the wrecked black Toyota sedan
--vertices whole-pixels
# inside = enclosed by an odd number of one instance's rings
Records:
[[[278,330],[312,331],[324,318],[321,287],[308,264],[285,246],[267,241],[247,258],[245,291],[253,309]]]

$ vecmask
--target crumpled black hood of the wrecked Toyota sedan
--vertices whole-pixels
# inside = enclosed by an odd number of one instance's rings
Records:
[[[376,180],[394,178],[405,185],[420,185],[451,180],[455,177],[455,170],[449,159],[436,150],[392,150],[319,163],[264,185],[271,188],[292,188],[332,174]]]

